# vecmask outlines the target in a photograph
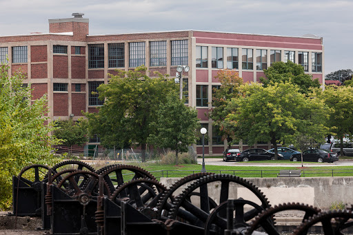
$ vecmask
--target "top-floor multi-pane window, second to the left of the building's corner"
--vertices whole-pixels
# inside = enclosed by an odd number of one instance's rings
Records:
[[[167,65],[167,41],[150,42],[150,65],[151,66]]]

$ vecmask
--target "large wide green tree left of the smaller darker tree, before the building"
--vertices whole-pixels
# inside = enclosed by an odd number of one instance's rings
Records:
[[[148,136],[156,132],[150,123],[157,120],[159,105],[166,102],[170,92],[178,90],[174,80],[162,74],[152,79],[145,75],[145,70],[119,70],[108,84],[98,88],[99,99],[105,100],[99,112],[85,113],[90,134],[97,134],[102,145],[123,147],[137,143],[141,146],[142,161]]]

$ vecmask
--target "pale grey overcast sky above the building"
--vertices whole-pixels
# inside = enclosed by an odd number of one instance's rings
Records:
[[[211,30],[323,37],[325,74],[353,70],[353,1],[0,0],[0,35],[48,32],[48,19],[90,19],[90,35]]]

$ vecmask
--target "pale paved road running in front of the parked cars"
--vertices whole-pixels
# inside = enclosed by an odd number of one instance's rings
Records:
[[[202,163],[202,158],[197,159],[197,163]],[[301,162],[299,163],[290,163],[289,161],[283,161],[283,163],[256,163],[256,161],[242,163],[235,161],[225,162],[223,159],[215,159],[215,158],[205,158],[205,165],[229,165],[229,166],[259,166],[259,167],[278,167],[278,166],[288,166],[288,167],[301,167]],[[345,166],[345,165],[353,165],[352,160],[340,160],[335,161],[334,163],[303,163],[305,167],[323,167],[323,166]]]

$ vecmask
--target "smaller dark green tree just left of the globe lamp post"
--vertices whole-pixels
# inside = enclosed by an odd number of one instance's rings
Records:
[[[184,105],[177,93],[170,93],[167,102],[159,106],[157,120],[152,125],[157,133],[148,137],[148,143],[175,150],[178,165],[178,154],[188,152],[188,145],[196,143],[197,110]]]

